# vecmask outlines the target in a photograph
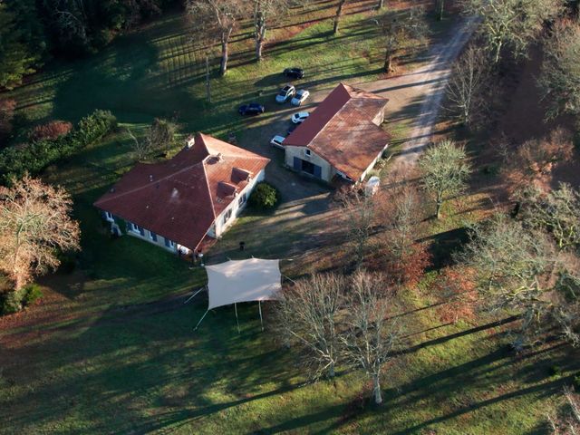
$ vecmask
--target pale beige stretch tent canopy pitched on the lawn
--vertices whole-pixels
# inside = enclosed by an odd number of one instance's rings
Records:
[[[238,302],[276,299],[282,288],[279,260],[229,260],[206,266],[208,272],[208,310]]]

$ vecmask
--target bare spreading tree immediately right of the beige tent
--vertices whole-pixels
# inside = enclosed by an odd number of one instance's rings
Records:
[[[312,275],[286,289],[277,306],[279,336],[301,349],[304,367],[314,378],[324,373],[334,376],[344,287],[342,275]]]

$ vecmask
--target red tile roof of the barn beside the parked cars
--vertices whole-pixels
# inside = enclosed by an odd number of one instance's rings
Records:
[[[388,99],[340,83],[284,145],[307,147],[351,179],[359,179],[391,136],[372,120]]]

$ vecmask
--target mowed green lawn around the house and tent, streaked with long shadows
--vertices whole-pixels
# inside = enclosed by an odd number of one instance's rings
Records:
[[[336,40],[328,22],[306,27],[259,68],[235,59],[237,67],[212,82],[210,107],[177,15],[94,58],[54,65],[14,94],[31,123],[76,120],[103,108],[133,128],[178,112],[183,131],[244,134],[237,103],[274,92],[288,64],[315,71],[306,81],[320,88],[374,77],[381,60],[367,14],[347,16]],[[256,304],[238,306],[239,334],[232,307],[208,314],[194,332],[205,297],[182,301],[205,283],[203,270],[133,237],[107,234],[92,202],[133,162],[121,132],[44,174],[73,194],[82,253],[72,274],[42,280],[40,305],[0,320],[0,433],[544,433],[545,412],[580,369],[557,343],[517,357],[496,319],[442,321],[430,306],[438,300],[433,271],[401,292],[409,343],[385,369],[381,408],[360,400],[369,394],[362,373],[304,383],[295,354],[268,330],[267,304],[264,333]],[[449,204],[449,220],[434,231],[457,227],[459,207]],[[236,233],[253,222],[248,215],[232,228],[232,250]],[[276,236],[275,227],[267,236],[275,252],[295,240]],[[562,374],[553,376],[552,366]]]

